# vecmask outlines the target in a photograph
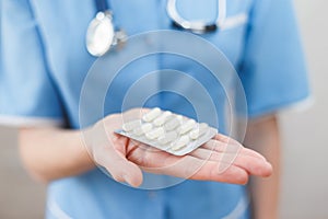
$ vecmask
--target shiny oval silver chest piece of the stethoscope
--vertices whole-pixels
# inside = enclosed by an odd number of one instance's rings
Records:
[[[93,56],[103,56],[115,41],[115,27],[110,12],[98,12],[86,32],[86,49]]]

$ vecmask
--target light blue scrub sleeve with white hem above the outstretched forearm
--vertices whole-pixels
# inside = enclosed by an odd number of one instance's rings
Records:
[[[61,103],[26,0],[1,1],[0,49],[0,124],[61,125]]]

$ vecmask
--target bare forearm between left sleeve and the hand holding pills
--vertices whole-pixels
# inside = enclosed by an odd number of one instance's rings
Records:
[[[22,128],[19,145],[25,168],[42,182],[78,175],[94,168],[77,130]]]

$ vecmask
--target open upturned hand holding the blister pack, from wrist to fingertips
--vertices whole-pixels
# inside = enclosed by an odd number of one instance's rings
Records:
[[[270,163],[259,153],[218,134],[189,154],[176,157],[114,134],[124,119],[141,117],[147,110],[113,114],[84,134],[87,151],[116,181],[132,186],[142,183],[142,172],[184,178],[245,184],[249,175],[269,176]]]

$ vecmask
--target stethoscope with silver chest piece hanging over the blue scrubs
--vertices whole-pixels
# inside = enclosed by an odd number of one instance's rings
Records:
[[[107,0],[95,0],[96,16],[90,22],[86,32],[87,51],[96,57],[103,56],[117,45],[124,45],[127,34],[113,22],[113,11]],[[176,0],[167,0],[166,11],[172,24],[195,34],[212,33],[220,30],[226,19],[226,0],[218,0],[218,16],[212,23],[183,19],[176,8]]]

